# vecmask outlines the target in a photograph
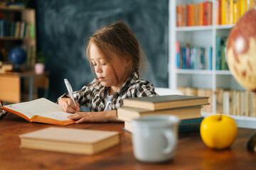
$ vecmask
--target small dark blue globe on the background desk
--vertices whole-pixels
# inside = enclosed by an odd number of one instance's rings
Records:
[[[9,60],[14,66],[19,66],[26,62],[26,52],[22,48],[15,47],[9,52]]]

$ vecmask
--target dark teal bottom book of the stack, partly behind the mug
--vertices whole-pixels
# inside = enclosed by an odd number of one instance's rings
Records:
[[[203,117],[181,120],[178,123],[178,132],[199,132],[202,120]],[[125,121],[123,130],[132,133],[132,123],[130,121]]]

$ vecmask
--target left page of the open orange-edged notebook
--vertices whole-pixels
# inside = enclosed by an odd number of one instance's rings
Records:
[[[33,115],[44,115],[47,113],[63,111],[61,106],[47,100],[46,98],[39,98],[34,101],[16,103],[4,107],[17,111],[18,113],[22,113],[23,115],[26,115],[29,119],[31,119]]]

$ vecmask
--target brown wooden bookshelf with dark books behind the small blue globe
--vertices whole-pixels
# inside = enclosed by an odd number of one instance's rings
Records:
[[[36,12],[33,8],[0,7],[0,52],[8,63],[14,47],[26,51],[27,62],[22,69],[31,71],[36,60]]]

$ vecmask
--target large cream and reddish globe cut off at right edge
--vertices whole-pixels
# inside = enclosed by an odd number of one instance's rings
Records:
[[[227,62],[236,81],[245,89],[256,92],[256,6],[230,30]]]

